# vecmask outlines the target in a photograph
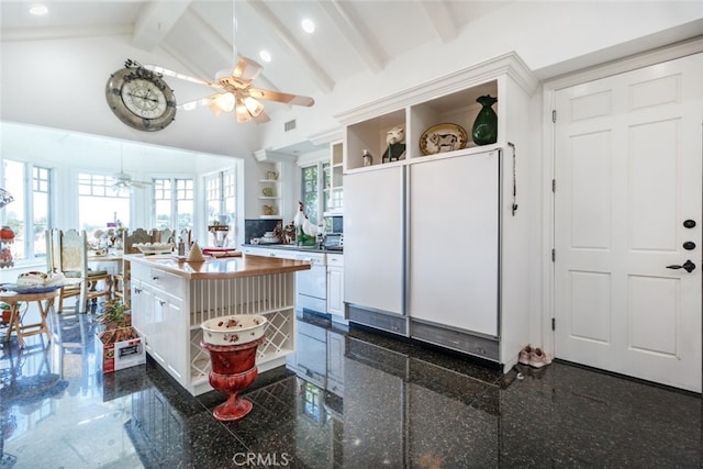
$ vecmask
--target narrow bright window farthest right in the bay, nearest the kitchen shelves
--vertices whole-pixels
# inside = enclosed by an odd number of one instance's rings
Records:
[[[236,174],[225,170],[205,176],[205,212],[208,224],[217,222],[230,226],[230,233],[236,233]],[[224,246],[236,246],[236,239],[226,239]]]

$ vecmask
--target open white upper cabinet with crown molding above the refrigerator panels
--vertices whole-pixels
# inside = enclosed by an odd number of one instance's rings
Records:
[[[498,114],[495,145],[505,146],[515,125],[527,124],[522,119],[521,122],[511,119],[507,109],[512,112],[515,107],[521,108],[517,115],[522,115],[526,107],[524,97],[536,87],[532,72],[511,53],[338,114],[336,118],[345,125],[345,172],[383,165],[388,133],[397,127],[402,127],[405,136],[401,161],[439,153],[459,155],[487,149],[478,147],[471,138],[473,122],[481,110],[477,99],[482,96],[498,99],[492,105]],[[370,167],[365,166],[364,150],[371,154]]]

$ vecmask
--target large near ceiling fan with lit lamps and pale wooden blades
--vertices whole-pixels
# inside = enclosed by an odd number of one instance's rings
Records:
[[[235,40],[237,30],[237,16],[235,14],[236,0],[232,2],[233,16],[233,37],[232,49],[234,56],[234,68],[220,70],[215,74],[213,80],[191,77],[178,71],[169,70],[156,65],[145,65],[144,68],[163,76],[178,78],[180,80],[191,81],[194,83],[205,85],[216,90],[216,92],[208,98],[198,99],[178,105],[179,109],[186,111],[208,105],[215,115],[222,112],[234,111],[237,122],[254,121],[257,123],[268,122],[270,118],[264,112],[263,101],[276,101],[284,104],[311,107],[315,101],[306,96],[291,94],[281,91],[267,90],[254,87],[254,80],[261,72],[261,66],[255,60],[239,56],[237,54]]]

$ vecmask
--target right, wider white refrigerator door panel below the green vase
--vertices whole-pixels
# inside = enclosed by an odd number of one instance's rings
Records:
[[[499,153],[411,165],[408,185],[409,315],[498,336]]]

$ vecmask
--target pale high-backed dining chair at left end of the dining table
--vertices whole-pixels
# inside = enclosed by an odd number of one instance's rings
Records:
[[[78,297],[78,312],[88,311],[88,302],[98,298],[112,298],[112,275],[107,270],[88,268],[88,236],[70,228],[58,231],[59,271],[66,277],[66,286],[62,288],[58,310],[64,310],[64,300]]]

